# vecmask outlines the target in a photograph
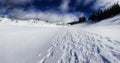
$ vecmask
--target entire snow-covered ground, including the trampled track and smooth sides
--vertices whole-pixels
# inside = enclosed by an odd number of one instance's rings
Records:
[[[120,63],[119,17],[74,26],[0,18],[0,63]]]

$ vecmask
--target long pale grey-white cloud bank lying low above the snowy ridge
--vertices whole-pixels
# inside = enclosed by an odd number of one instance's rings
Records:
[[[21,9],[14,9],[9,15],[17,19],[41,19],[49,22],[71,22],[78,19],[74,14],[59,14],[50,11],[36,12],[35,10],[23,11]]]

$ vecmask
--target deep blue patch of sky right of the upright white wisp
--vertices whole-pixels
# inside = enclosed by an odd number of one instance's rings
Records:
[[[83,13],[90,13],[92,11],[95,11],[94,8],[92,8],[97,0],[71,0],[69,3],[70,12],[83,12]]]

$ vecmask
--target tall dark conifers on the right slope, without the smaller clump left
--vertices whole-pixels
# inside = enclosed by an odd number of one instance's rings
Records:
[[[105,10],[99,10],[98,12],[93,12],[92,15],[88,18],[88,20],[99,22],[103,19],[113,17],[117,14],[120,14],[120,5],[118,3],[110,6]]]

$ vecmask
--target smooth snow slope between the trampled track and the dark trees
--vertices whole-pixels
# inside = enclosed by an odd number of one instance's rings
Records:
[[[72,27],[120,41],[120,15],[102,20],[92,25],[90,23],[82,23]]]

